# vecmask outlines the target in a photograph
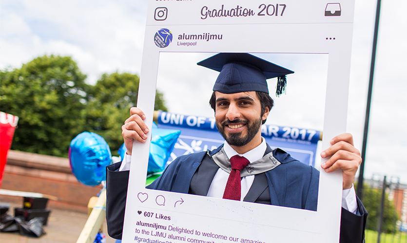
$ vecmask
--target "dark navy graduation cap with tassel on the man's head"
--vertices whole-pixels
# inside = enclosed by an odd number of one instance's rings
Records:
[[[278,97],[285,91],[286,75],[294,73],[249,53],[218,53],[197,65],[220,72],[213,91],[224,94],[245,91],[269,93],[266,79],[277,77],[275,94]]]

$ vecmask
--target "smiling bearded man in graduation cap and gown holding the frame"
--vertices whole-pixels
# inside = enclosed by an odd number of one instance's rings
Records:
[[[261,124],[273,106],[266,79],[278,78],[280,95],[293,72],[248,53],[219,53],[198,65],[220,71],[210,104],[225,143],[208,153],[178,157],[148,188],[316,210],[319,172],[281,149],[271,150],[261,137]],[[144,143],[149,132],[140,109],[133,107],[130,114],[122,126],[127,155],[107,169],[106,217],[114,238],[121,238],[133,141]],[[350,134],[330,143],[321,153],[330,158],[321,167],[343,172],[340,239],[363,242],[367,212],[353,189],[360,153]]]

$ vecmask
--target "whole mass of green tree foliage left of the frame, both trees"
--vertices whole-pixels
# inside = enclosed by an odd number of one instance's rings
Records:
[[[1,111],[19,117],[11,149],[67,157],[70,141],[88,131],[102,136],[116,155],[139,78],[105,73],[95,86],[85,79],[71,57],[54,55],[0,70]],[[155,109],[166,111],[162,96],[156,93]]]

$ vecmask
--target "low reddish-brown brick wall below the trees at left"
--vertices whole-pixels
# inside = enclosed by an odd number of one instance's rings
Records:
[[[38,192],[58,197],[49,200],[48,208],[87,212],[92,196],[102,187],[88,187],[72,174],[67,158],[44,156],[26,152],[8,152],[1,189]],[[21,197],[1,195],[2,202],[21,202]]]

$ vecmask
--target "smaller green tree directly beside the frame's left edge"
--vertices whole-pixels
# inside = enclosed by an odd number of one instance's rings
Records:
[[[102,136],[112,154],[123,144],[121,126],[129,117],[129,110],[137,103],[139,77],[131,73],[103,74],[89,90],[86,121]],[[167,111],[162,93],[156,92],[155,110]]]

